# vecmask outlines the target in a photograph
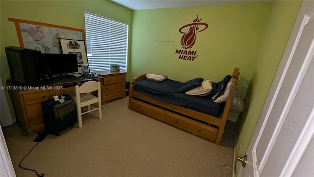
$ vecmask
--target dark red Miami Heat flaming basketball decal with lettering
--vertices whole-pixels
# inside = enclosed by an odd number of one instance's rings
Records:
[[[185,49],[176,49],[176,54],[180,54],[179,59],[191,61],[196,59],[197,51],[192,51],[189,49],[191,49],[196,42],[196,34],[208,28],[208,24],[200,22],[201,20],[202,18],[199,19],[198,15],[196,15],[196,19],[193,20],[193,23],[184,25],[179,29],[179,32],[183,33],[181,38],[181,47]],[[185,32],[186,29],[188,29],[187,32]]]

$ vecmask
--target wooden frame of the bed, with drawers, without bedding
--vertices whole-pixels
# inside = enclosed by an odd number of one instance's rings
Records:
[[[236,86],[238,76],[239,76],[239,68],[235,68],[232,75],[233,86]],[[146,79],[146,74],[142,74],[133,78],[134,82],[145,80],[145,79]],[[224,127],[228,118],[229,110],[230,110],[230,105],[231,105],[230,95],[228,96],[228,99],[225,102],[224,109],[222,113],[220,114],[219,118],[216,118],[216,117],[209,116],[207,114],[204,114],[198,111],[184,108],[182,106],[165,103],[157,99],[151,98],[149,96],[146,96],[137,91],[134,91],[133,90],[134,82],[133,81],[130,82],[129,109],[142,113],[151,118],[158,119],[169,125],[175,126],[184,131],[192,133],[193,135],[212,141],[216,145],[220,144],[220,140],[221,140]],[[143,100],[143,101],[139,101],[138,99]],[[145,102],[148,102],[157,106],[147,104]],[[171,110],[171,112],[167,110]],[[183,115],[210,123],[213,126],[209,126],[207,124],[200,123],[190,118],[186,118]]]

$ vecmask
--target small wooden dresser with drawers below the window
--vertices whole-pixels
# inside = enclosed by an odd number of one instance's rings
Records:
[[[108,101],[126,97],[126,72],[96,71],[94,73],[103,77],[103,105],[106,104]]]

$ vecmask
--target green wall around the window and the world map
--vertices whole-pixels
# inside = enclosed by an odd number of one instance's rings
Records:
[[[19,46],[14,22],[9,22],[8,18],[85,29],[85,11],[129,24],[131,41],[133,11],[109,0],[0,0],[0,76],[3,85],[6,85],[5,80],[10,76],[5,47]],[[131,58],[131,54],[128,58]],[[130,66],[128,70],[131,70]],[[11,114],[14,115],[7,91],[6,97]]]

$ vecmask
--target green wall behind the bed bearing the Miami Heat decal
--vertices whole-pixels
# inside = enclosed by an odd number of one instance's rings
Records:
[[[135,10],[131,76],[154,73],[181,82],[196,77],[219,82],[239,67],[238,88],[244,95],[257,64],[272,5],[273,2],[262,2]],[[176,50],[183,50],[179,29],[191,24],[196,15],[209,25],[196,34],[195,45],[188,50],[196,51],[198,56],[193,61],[179,59]]]

